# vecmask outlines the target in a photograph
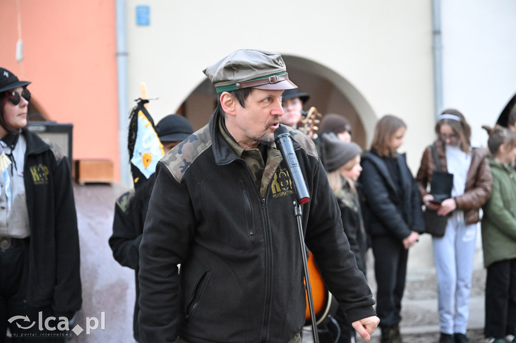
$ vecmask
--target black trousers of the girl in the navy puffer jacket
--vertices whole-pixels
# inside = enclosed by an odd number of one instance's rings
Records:
[[[371,239],[375,256],[377,283],[376,313],[380,328],[390,328],[401,321],[401,298],[405,290],[409,251],[403,243],[390,236]]]

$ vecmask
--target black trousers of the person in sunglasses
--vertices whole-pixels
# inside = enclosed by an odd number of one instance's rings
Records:
[[[55,336],[62,335],[66,331],[45,328],[45,320],[53,316],[52,308],[29,306],[25,300],[28,283],[28,251],[28,242],[15,248],[0,250],[0,343],[6,340],[7,328],[12,335],[13,343],[64,342],[65,337]],[[39,330],[40,312],[43,330]],[[14,316],[27,316],[29,320],[15,319],[9,322],[9,319]],[[28,328],[31,324],[33,325]],[[58,324],[59,320],[49,321],[49,327],[57,328]]]

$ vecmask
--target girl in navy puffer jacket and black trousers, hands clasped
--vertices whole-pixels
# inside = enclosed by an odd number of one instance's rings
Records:
[[[403,144],[407,126],[394,115],[376,124],[370,151],[362,155],[365,228],[375,256],[376,312],[381,342],[401,342],[401,298],[409,251],[425,231],[420,193],[407,165]]]

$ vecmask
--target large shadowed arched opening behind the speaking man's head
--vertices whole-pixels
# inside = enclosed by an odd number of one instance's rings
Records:
[[[301,57],[282,55],[289,78],[301,92],[310,94],[304,106],[314,106],[322,115],[343,115],[353,129],[352,139],[366,149],[373,138],[376,115],[360,92],[345,78],[328,67]],[[181,111],[193,128],[204,126],[217,104],[213,84],[205,79],[193,90],[178,111]]]

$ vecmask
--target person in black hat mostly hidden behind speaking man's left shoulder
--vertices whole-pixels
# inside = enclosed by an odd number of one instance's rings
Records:
[[[169,114],[156,125],[156,132],[165,152],[181,143],[193,133],[193,128],[184,116]],[[109,246],[115,260],[124,267],[135,270],[136,301],[133,316],[133,336],[139,341],[138,328],[138,247],[140,246],[143,224],[147,216],[149,199],[154,186],[154,174],[147,183],[138,189],[132,188],[122,194],[115,202],[115,217],[113,219],[113,234],[109,237]]]

